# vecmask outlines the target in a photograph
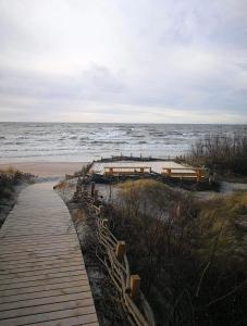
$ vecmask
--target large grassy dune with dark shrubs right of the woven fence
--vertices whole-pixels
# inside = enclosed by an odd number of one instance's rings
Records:
[[[247,193],[198,201],[156,180],[119,186],[112,217],[158,325],[247,318]],[[242,325],[242,324],[239,324]]]

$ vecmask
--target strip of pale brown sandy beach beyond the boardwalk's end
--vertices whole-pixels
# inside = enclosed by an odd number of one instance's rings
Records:
[[[0,170],[13,167],[22,172],[32,173],[39,177],[62,177],[65,174],[74,174],[79,171],[86,162],[22,162],[0,164]]]

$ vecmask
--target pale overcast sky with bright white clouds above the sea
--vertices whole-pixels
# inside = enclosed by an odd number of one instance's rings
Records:
[[[0,0],[0,121],[247,123],[247,0]]]

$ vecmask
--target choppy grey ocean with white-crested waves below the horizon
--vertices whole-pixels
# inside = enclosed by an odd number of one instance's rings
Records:
[[[111,155],[175,158],[207,135],[246,125],[0,123],[0,162],[88,162]]]

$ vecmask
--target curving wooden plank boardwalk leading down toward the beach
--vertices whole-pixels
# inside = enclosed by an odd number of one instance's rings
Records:
[[[79,242],[52,184],[24,189],[0,229],[0,326],[98,325]]]

